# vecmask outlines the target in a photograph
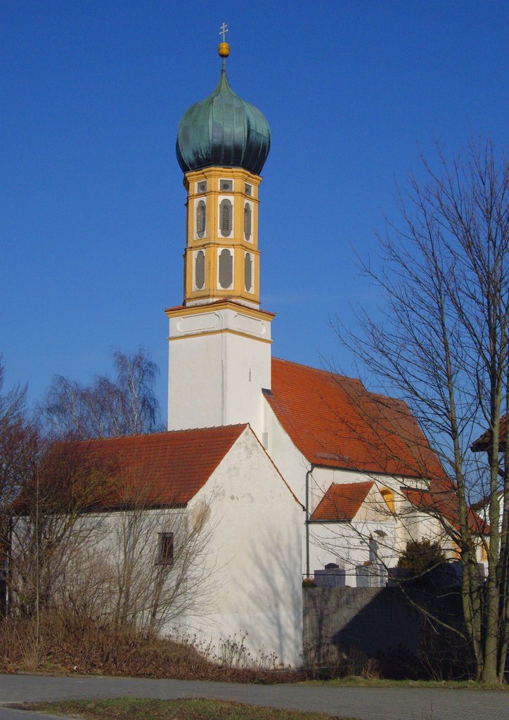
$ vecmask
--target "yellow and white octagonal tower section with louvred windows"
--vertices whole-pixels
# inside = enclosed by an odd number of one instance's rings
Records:
[[[258,186],[243,168],[186,174],[184,305],[235,300],[259,307]]]

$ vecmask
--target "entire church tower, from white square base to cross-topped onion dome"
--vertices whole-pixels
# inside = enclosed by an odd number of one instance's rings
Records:
[[[184,301],[170,320],[168,430],[251,423],[261,431],[270,389],[270,324],[260,310],[258,188],[271,132],[222,69],[214,91],[184,113],[176,156],[186,189]]]

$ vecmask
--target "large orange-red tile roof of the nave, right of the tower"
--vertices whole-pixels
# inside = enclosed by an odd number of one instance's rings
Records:
[[[446,477],[405,402],[368,392],[360,380],[274,358],[265,396],[309,462]]]

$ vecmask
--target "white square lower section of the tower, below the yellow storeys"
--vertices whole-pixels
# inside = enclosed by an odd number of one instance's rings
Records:
[[[250,423],[261,436],[271,387],[269,320],[243,310],[170,319],[168,430]]]

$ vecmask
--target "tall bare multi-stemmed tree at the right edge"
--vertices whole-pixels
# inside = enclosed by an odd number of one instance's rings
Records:
[[[399,194],[400,222],[387,222],[379,237],[381,269],[362,265],[382,295],[384,316],[361,313],[359,333],[341,323],[337,329],[371,383],[405,400],[450,478],[448,488],[433,482],[428,468],[419,472],[426,512],[459,552],[477,676],[495,683],[503,680],[508,636],[508,430],[500,422],[509,383],[508,162],[489,140],[471,140],[451,161],[436,148],[437,167],[422,158],[425,179],[410,176]],[[488,452],[474,456],[472,442],[485,428]],[[482,496],[488,534],[469,509]],[[444,498],[454,505],[454,523]],[[482,583],[479,538],[487,557]]]

